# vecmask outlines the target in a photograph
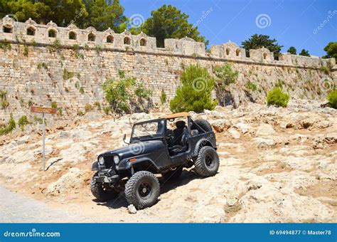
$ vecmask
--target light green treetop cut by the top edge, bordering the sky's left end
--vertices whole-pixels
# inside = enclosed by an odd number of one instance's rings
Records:
[[[127,28],[127,17],[119,0],[85,0],[84,3],[88,16],[82,21],[83,28],[93,26],[98,31],[111,28],[117,33]]]

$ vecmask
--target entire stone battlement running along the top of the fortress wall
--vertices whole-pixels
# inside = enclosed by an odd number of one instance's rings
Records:
[[[237,44],[228,42],[222,45],[211,46],[210,52],[205,51],[205,44],[196,42],[192,38],[165,39],[164,48],[156,47],[156,38],[140,33],[137,36],[129,31],[114,33],[112,29],[97,31],[93,27],[77,28],[74,24],[60,27],[50,21],[46,25],[38,24],[32,19],[25,23],[15,21],[9,16],[0,19],[0,41],[24,44],[42,44],[58,46],[80,46],[82,48],[101,47],[106,50],[144,51],[167,53],[173,55],[219,58],[228,61],[267,63],[275,65],[294,65],[299,67],[321,68],[336,64],[335,59],[318,57],[296,56],[282,53],[279,61],[267,48],[250,50],[250,57],[246,57],[245,49]]]

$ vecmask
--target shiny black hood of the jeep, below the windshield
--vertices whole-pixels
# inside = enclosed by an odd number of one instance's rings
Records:
[[[142,156],[151,152],[158,152],[159,149],[164,149],[164,144],[161,140],[149,140],[134,142],[132,144],[128,144],[125,147],[102,153],[100,156],[117,154],[119,159],[125,159],[129,157]]]

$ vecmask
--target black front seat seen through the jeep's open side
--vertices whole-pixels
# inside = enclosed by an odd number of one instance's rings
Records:
[[[187,135],[186,123],[183,121],[176,122],[176,130],[173,130],[173,147],[169,148],[171,153],[176,154],[186,151]]]

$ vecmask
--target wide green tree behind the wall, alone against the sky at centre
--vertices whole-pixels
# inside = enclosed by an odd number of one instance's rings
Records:
[[[208,41],[205,41],[204,36],[200,36],[198,27],[188,23],[188,17],[175,6],[163,5],[156,11],[151,11],[151,17],[146,19],[139,31],[156,37],[158,47],[164,47],[165,38],[183,38],[186,36],[207,45]]]

